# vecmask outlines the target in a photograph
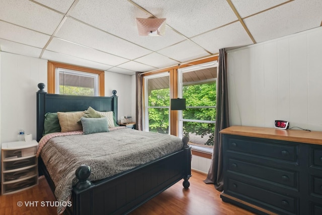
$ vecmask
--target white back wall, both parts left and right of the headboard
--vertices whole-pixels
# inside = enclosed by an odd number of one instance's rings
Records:
[[[37,85],[47,86],[47,60],[1,51],[0,60],[0,142],[16,141],[20,128],[35,138]],[[105,95],[117,90],[119,116],[131,114],[131,80],[128,75],[105,73]]]

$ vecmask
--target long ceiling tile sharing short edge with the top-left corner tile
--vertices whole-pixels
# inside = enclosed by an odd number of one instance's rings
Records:
[[[73,19],[67,19],[55,36],[128,59],[135,59],[151,53],[148,49]]]

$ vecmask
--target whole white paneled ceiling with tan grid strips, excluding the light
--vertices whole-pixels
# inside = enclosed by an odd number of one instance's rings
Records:
[[[165,36],[138,35],[149,17]],[[0,0],[1,51],[127,75],[321,25],[321,0]]]

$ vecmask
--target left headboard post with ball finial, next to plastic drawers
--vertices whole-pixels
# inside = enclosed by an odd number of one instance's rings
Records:
[[[38,84],[38,92],[37,92],[37,141],[42,137],[42,133],[44,131],[44,121],[45,121],[45,106],[46,106],[46,94],[44,91],[45,88],[44,83]]]

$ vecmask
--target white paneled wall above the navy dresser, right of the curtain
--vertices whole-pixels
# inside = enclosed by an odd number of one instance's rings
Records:
[[[322,131],[322,27],[227,51],[230,125]]]

